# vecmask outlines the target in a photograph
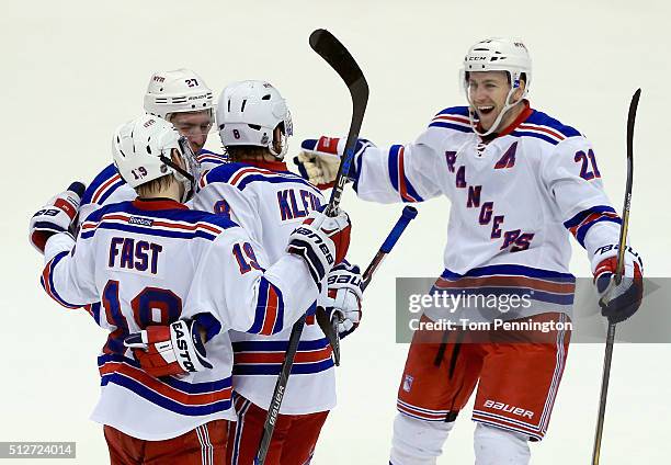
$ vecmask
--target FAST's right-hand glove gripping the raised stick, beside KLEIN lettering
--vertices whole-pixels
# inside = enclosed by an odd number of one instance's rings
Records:
[[[286,251],[305,260],[321,288],[321,281],[348,253],[351,228],[350,217],[341,209],[333,217],[312,211],[291,234]]]

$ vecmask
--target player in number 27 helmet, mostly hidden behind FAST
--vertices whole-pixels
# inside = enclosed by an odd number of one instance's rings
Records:
[[[225,162],[225,157],[205,150],[205,141],[214,123],[213,94],[205,81],[190,69],[158,71],[149,79],[145,111],[171,122],[185,136],[203,170]],[[109,165],[89,184],[81,206],[80,219],[111,203],[132,201],[135,191],[126,185]]]

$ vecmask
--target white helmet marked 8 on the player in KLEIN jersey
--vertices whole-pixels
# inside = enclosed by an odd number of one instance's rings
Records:
[[[224,147],[266,147],[278,159],[293,134],[292,114],[277,89],[265,81],[240,81],[227,86],[217,104],[217,125]],[[280,126],[281,140],[274,139]]]

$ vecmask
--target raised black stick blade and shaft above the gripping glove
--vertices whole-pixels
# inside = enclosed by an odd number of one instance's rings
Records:
[[[338,76],[340,76],[350,90],[352,98],[352,121],[348,132],[344,155],[338,169],[329,204],[326,208],[326,214],[332,216],[338,205],[340,205],[350,166],[354,158],[354,145],[359,138],[359,132],[361,131],[368,103],[368,83],[350,52],[327,30],[316,30],[310,34],[310,47],[338,72]]]

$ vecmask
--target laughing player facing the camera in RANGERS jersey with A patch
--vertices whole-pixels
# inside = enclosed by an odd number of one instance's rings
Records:
[[[625,279],[611,283],[621,219],[603,191],[592,144],[525,99],[532,66],[524,44],[479,42],[468,50],[463,71],[468,106],[441,111],[412,144],[382,149],[359,143],[350,171],[357,195],[380,203],[446,195],[452,208],[445,270],[434,288],[531,296],[528,308],[508,314],[494,308],[490,317],[568,320],[575,280],[569,234],[587,250],[603,315],[613,322],[632,316],[642,295],[642,262],[627,248]],[[332,182],[334,156],[343,145],[327,137],[304,141],[299,169],[315,184]],[[481,307],[458,310],[487,315]],[[423,318],[444,316],[430,309]],[[527,343],[468,344],[458,338],[473,334],[453,332],[444,344],[420,343],[422,331],[413,337],[398,390],[390,462],[435,464],[477,384],[476,464],[528,463],[527,441],[542,440],[549,423],[569,334],[551,331],[554,343],[521,332],[516,336]]]

